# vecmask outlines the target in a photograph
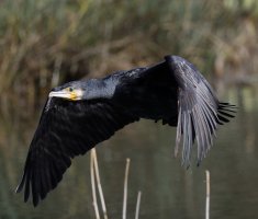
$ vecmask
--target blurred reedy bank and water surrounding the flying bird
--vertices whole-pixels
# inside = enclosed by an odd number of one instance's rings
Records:
[[[74,160],[37,207],[14,188],[51,88],[148,66],[167,54],[193,62],[238,108],[200,168],[172,155],[175,128],[142,120],[97,147],[109,218],[121,218],[131,158],[128,218],[258,217],[258,1],[0,0],[0,218],[94,218],[89,153]]]

